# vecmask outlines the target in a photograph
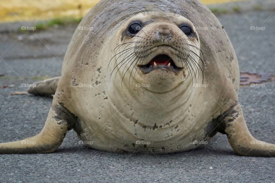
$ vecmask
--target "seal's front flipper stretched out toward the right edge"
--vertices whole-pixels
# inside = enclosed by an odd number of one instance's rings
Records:
[[[239,102],[218,119],[219,132],[226,134],[231,147],[242,156],[275,157],[275,145],[255,139],[249,132]]]

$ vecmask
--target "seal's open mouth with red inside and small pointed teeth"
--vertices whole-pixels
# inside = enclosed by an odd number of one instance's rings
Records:
[[[158,55],[154,57],[147,65],[140,66],[143,73],[149,73],[155,69],[171,70],[177,72],[179,68],[175,65],[174,61],[167,55]]]

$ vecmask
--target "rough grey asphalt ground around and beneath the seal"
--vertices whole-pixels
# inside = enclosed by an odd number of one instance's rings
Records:
[[[241,70],[275,73],[275,13],[272,13],[218,17],[236,49]],[[254,31],[251,26],[266,29]],[[0,59],[0,74],[5,74],[0,78],[0,86],[15,85],[0,88],[0,142],[27,138],[43,128],[52,98],[10,94],[26,91],[21,84],[32,83],[38,75],[60,75],[62,62],[55,55],[60,54],[62,60],[62,51],[75,27],[58,29],[23,34],[19,40],[21,34],[1,33],[1,54],[17,41],[1,56],[5,62]],[[64,32],[60,33],[61,30]],[[27,44],[30,36],[33,36],[31,45]],[[275,83],[264,88],[241,87],[239,92],[250,132],[270,143],[275,143],[274,87]],[[202,148],[167,155],[101,152],[78,141],[77,135],[70,131],[55,153],[0,155],[0,182],[275,182],[274,158],[238,156],[222,134]]]

